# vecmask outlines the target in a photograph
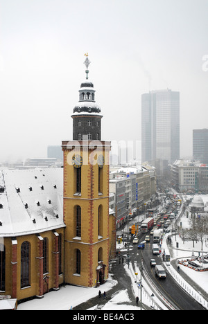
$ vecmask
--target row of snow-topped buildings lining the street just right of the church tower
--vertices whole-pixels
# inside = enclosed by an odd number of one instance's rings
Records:
[[[112,166],[110,193],[114,194],[114,205],[110,206],[114,206],[116,227],[119,228],[128,217],[143,210],[144,204],[151,204],[153,201],[156,194],[155,168],[147,164],[141,168]]]

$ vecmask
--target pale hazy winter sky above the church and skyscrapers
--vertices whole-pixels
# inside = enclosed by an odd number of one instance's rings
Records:
[[[208,0],[0,0],[0,161],[72,138],[87,52],[103,140],[141,140],[141,94],[169,88],[191,155],[192,130],[208,128],[207,12]]]

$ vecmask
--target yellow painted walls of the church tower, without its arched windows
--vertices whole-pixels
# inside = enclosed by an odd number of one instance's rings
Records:
[[[64,150],[64,222],[65,233],[65,280],[73,285],[92,287],[96,283],[98,250],[103,249],[103,263],[106,264],[105,277],[108,276],[109,260],[109,149]],[[73,154],[83,157],[82,190],[76,195],[76,169],[71,165]],[[98,192],[98,155],[105,155],[105,165],[101,170],[102,195]],[[94,165],[92,165],[94,164]],[[76,238],[76,206],[81,208],[81,237]],[[101,236],[98,237],[98,208],[102,210]],[[80,276],[76,271],[76,249],[81,253]],[[101,250],[100,250],[101,251]]]

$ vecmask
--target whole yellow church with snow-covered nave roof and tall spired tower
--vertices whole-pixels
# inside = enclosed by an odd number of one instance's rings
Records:
[[[101,141],[101,109],[86,80],[73,108],[64,168],[0,172],[0,295],[43,298],[63,284],[98,287],[114,258],[109,212],[111,143]]]

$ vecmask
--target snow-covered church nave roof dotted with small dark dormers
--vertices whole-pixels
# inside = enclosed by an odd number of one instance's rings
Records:
[[[0,237],[64,227],[63,169],[1,170]]]

